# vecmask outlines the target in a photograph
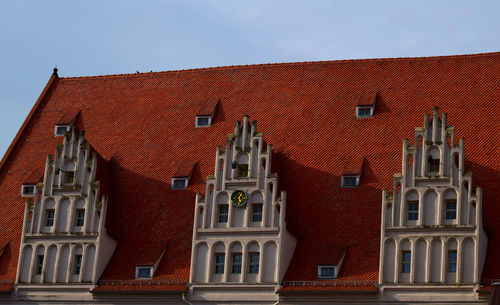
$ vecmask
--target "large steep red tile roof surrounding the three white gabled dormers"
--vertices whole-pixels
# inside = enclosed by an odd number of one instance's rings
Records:
[[[169,241],[154,279],[187,282],[195,194],[214,172],[217,145],[248,114],[273,144],[279,188],[288,191],[286,218],[298,243],[285,279],[316,280],[329,244],[351,245],[339,279],[377,280],[381,190],[401,171],[403,139],[437,105],[455,139],[466,139],[466,170],[484,191],[483,277],[500,278],[499,88],[500,53],[53,76],[0,163],[0,240],[19,244],[24,173],[54,153],[60,117],[81,110],[85,136],[110,160],[113,181],[106,226],[119,244],[102,278],[133,280],[140,249]],[[374,116],[356,119],[353,101],[373,91]],[[214,123],[195,128],[193,101],[219,99]],[[348,157],[365,158],[359,188],[340,187]],[[172,191],[181,160],[199,162],[187,190]],[[15,279],[18,251],[0,257],[0,280]]]

